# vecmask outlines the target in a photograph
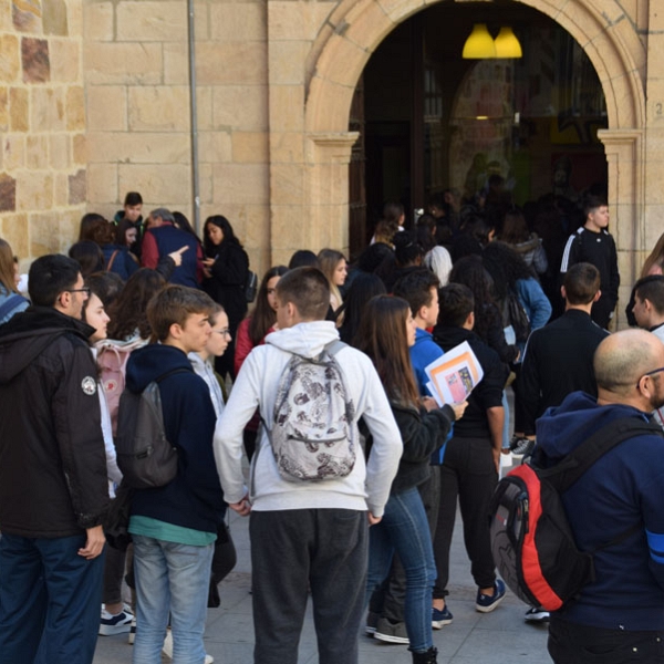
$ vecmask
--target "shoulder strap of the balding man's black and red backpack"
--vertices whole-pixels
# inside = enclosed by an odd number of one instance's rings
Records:
[[[583,440],[566,459],[552,468],[539,473],[560,494],[567,491],[595,461],[624,440],[641,435],[664,437],[664,432],[654,422],[639,417],[621,417],[598,429]]]

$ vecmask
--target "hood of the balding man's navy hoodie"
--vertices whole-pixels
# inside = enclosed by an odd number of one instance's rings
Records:
[[[544,455],[546,465],[561,460],[594,432],[622,417],[650,416],[632,406],[612,404],[600,406],[585,392],[572,392],[560,406],[548,408],[537,421],[537,450]]]

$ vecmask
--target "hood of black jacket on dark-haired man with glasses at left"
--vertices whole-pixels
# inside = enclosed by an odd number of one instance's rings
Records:
[[[51,307],[29,307],[0,325],[0,383],[21,373],[56,336],[72,333],[85,343],[94,332],[86,323]]]

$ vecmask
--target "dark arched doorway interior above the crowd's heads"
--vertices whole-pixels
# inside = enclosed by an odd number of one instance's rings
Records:
[[[509,25],[523,56],[464,60],[478,20],[494,35]],[[440,2],[418,12],[383,40],[360,86],[364,115],[352,125],[362,132],[353,152],[365,147],[369,231],[385,200],[400,200],[411,218],[444,190],[457,206],[484,201],[490,178],[521,207],[551,195],[569,206],[587,187],[605,187],[598,131],[608,116],[596,72],[566,30],[521,3],[478,12]],[[352,167],[352,252],[359,175]]]

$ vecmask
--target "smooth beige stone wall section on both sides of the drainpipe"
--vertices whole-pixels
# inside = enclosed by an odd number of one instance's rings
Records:
[[[194,222],[186,0],[86,0],[89,209],[127,190]],[[269,261],[264,1],[195,3],[201,222],[226,216],[259,271]]]

